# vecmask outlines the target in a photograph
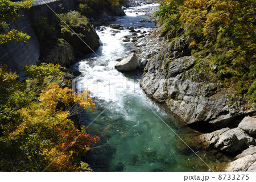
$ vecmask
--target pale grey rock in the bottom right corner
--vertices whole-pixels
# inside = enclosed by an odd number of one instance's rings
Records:
[[[225,168],[227,172],[245,172],[256,171],[256,154],[247,155],[243,158],[237,159],[228,163]]]

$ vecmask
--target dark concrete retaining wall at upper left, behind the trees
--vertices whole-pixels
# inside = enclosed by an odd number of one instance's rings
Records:
[[[44,0],[47,5],[56,13],[67,13],[75,10],[77,0]],[[0,63],[6,64],[13,72],[22,72],[22,65],[38,63],[40,56],[40,43],[31,26],[34,19],[39,16],[47,17],[49,20],[55,18],[55,13],[45,4],[40,5],[42,0],[36,1],[35,6],[30,10],[21,10],[24,16],[10,24],[10,29],[22,31],[31,36],[27,43],[16,42],[15,40],[0,44]]]

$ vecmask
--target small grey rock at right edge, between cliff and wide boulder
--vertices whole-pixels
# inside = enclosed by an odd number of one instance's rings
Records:
[[[239,123],[238,127],[250,135],[256,135],[256,118],[245,117]]]

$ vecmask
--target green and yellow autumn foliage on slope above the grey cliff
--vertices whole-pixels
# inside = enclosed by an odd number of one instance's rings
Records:
[[[197,55],[210,57],[216,75],[256,102],[254,0],[164,0],[156,12],[169,40],[188,36]],[[210,55],[210,56],[209,56]],[[225,73],[225,74],[222,74]]]

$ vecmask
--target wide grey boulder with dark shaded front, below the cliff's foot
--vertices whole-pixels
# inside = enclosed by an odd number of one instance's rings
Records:
[[[228,153],[236,153],[255,144],[255,139],[249,137],[238,127],[235,129],[227,127],[212,133],[203,134],[200,135],[200,139],[203,140],[205,146]]]

